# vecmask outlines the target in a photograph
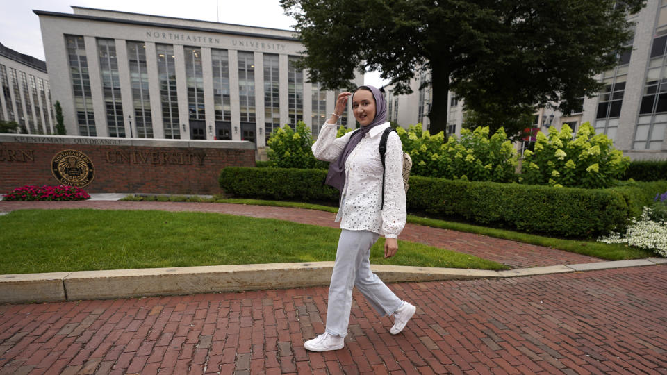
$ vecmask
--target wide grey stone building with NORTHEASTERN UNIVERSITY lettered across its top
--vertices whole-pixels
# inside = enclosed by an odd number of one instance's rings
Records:
[[[294,31],[72,9],[34,10],[68,135],[263,149],[275,128],[304,121],[316,134],[334,110],[334,92],[295,68],[304,46]]]

